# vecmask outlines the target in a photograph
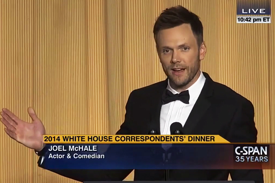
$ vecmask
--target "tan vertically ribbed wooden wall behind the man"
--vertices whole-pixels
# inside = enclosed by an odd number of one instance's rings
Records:
[[[275,9],[272,1],[271,9]],[[275,142],[275,14],[237,24],[236,0],[0,0],[0,107],[47,134],[114,134],[130,92],[165,79],[152,28],[183,5],[201,17],[202,70],[251,100],[259,142]],[[0,183],[75,182],[38,168],[38,157],[0,130]],[[275,182],[275,170],[265,170]],[[132,180],[133,173],[126,180]]]

